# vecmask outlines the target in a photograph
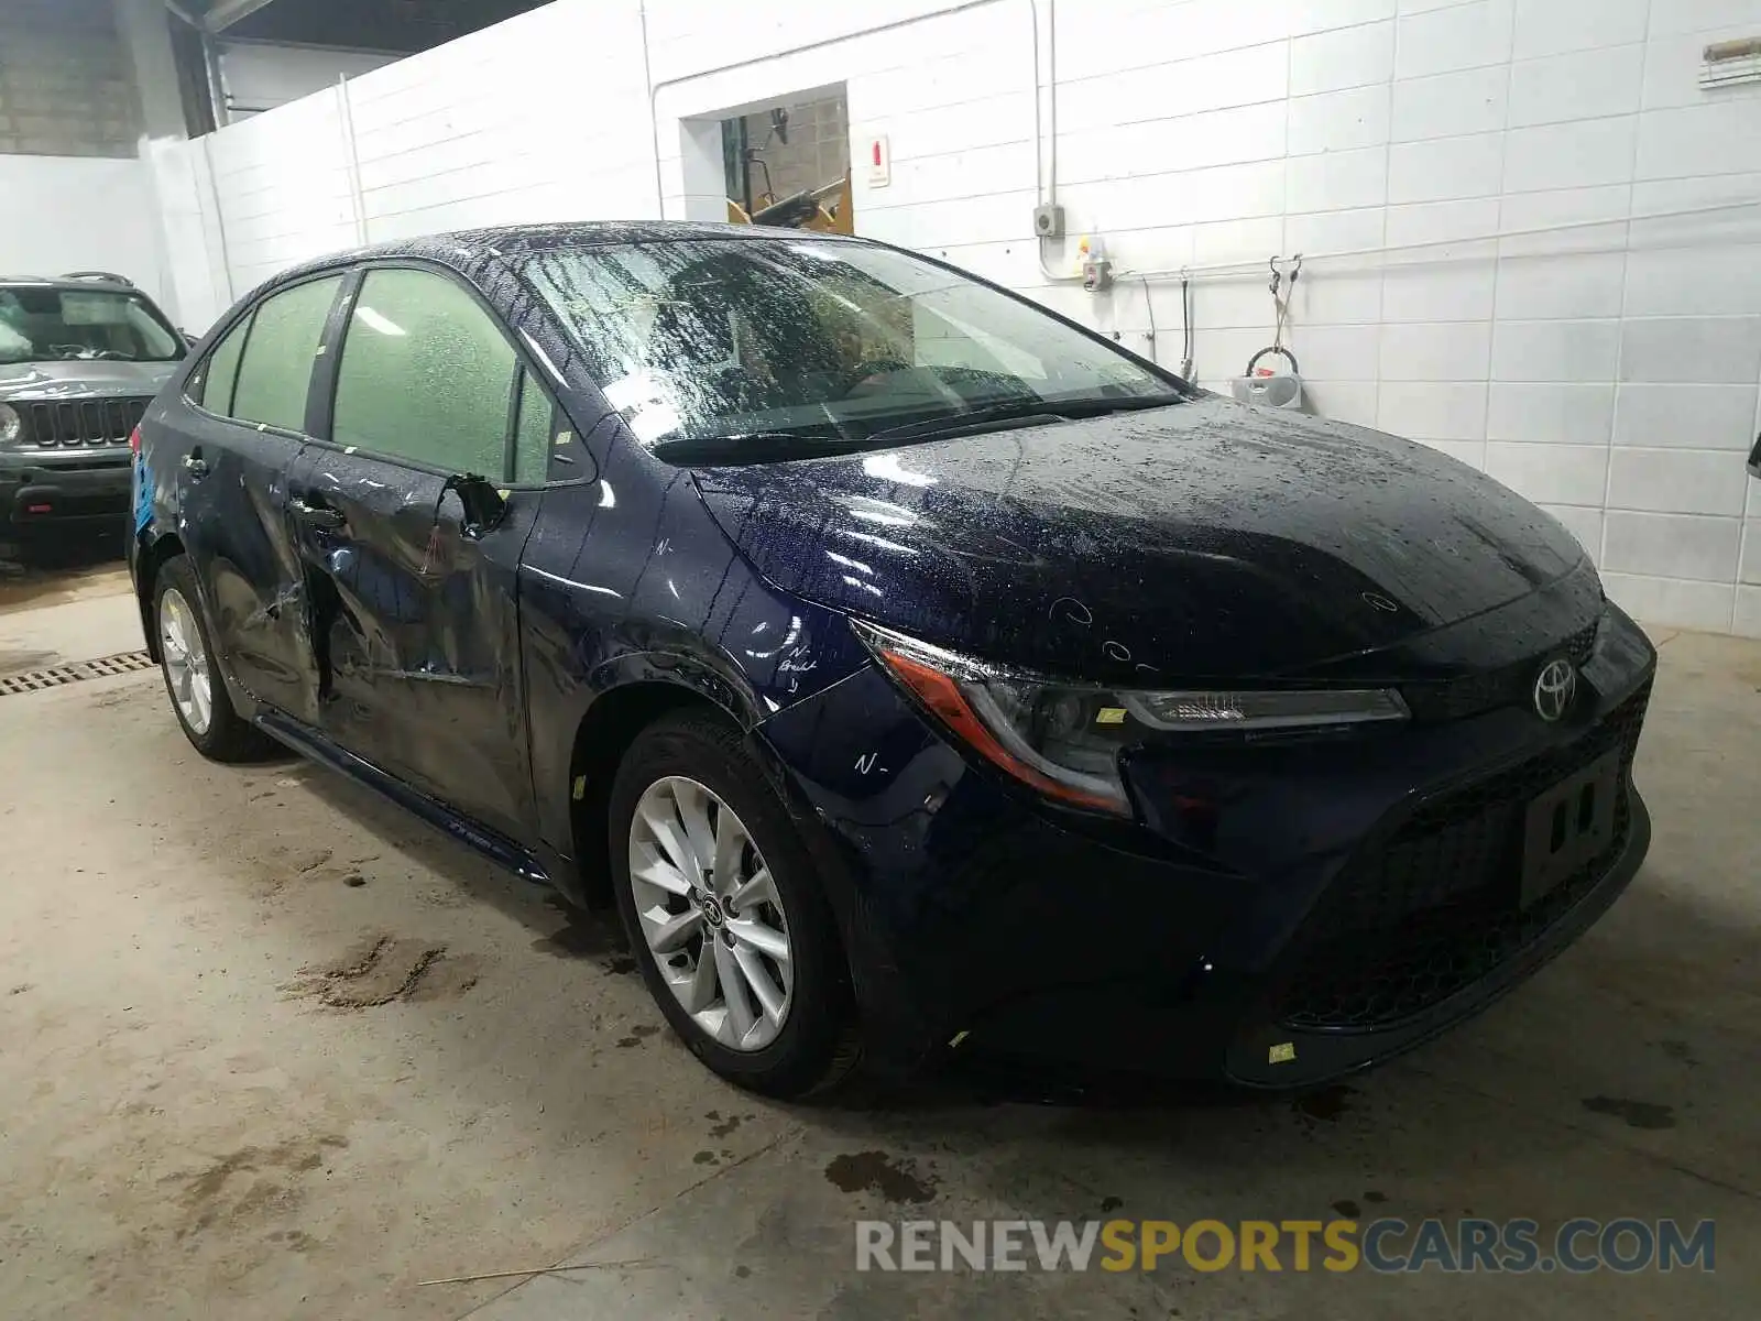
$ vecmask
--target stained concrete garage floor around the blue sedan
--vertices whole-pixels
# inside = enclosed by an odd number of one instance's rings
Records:
[[[139,646],[122,592],[0,578],[0,671]],[[1754,1317],[1761,645],[1662,641],[1652,860],[1580,946],[1319,1099],[1127,1111],[759,1101],[609,925],[317,768],[203,763],[157,671],[0,697],[0,1314]],[[1102,1208],[1713,1217],[1719,1270],[852,1268],[858,1217]],[[625,1265],[424,1284],[564,1263]]]

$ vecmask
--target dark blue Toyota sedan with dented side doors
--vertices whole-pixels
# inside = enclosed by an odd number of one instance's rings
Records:
[[[1581,934],[1655,653],[1405,440],[859,240],[479,231],[234,306],[136,433],[148,646],[581,904],[713,1069],[1308,1085]]]

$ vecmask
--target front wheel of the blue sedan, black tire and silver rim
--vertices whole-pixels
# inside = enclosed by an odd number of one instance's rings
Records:
[[[713,803],[697,798],[699,789]],[[680,807],[680,794],[685,807]],[[664,808],[669,801],[674,814],[667,817]],[[722,851],[699,831],[703,852],[711,854],[713,865],[696,897],[676,895],[645,879],[666,875],[667,886],[680,879],[689,884],[689,858],[683,868],[674,865],[648,823],[667,821],[673,849],[696,852],[685,826],[692,801],[699,801],[706,821],[718,828],[731,812],[729,837],[743,835],[750,845],[726,854],[738,861],[724,861]],[[646,810],[641,821],[639,807]],[[770,787],[764,768],[741,747],[740,733],[720,717],[699,712],[669,715],[648,726],[618,766],[608,830],[613,889],[630,949],[655,1004],[692,1053],[729,1081],[766,1096],[803,1097],[829,1092],[844,1081],[861,1050],[836,923],[799,826]],[[664,867],[657,870],[657,863]],[[724,872],[720,879],[713,875],[715,867]],[[768,872],[768,884],[759,872]],[[692,911],[697,914],[696,937],[687,935],[673,953],[657,953],[650,934],[662,928],[660,918],[685,925]],[[771,956],[778,934],[787,949],[787,970]],[[701,965],[717,944],[720,949],[711,960],[717,985],[704,993]],[[729,963],[734,967],[724,974]],[[754,963],[755,974],[743,970]],[[734,979],[745,1015],[736,1011],[727,993],[727,976]],[[771,1007],[782,993],[778,1022],[766,1011],[766,992]],[[696,1002],[694,1009],[687,1007],[687,997]],[[752,1022],[752,1029],[743,1032],[741,1020]]]

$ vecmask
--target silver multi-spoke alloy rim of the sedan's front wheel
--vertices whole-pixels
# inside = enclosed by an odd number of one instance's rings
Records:
[[[655,780],[630,819],[630,893],[662,981],[729,1050],[771,1044],[789,1020],[789,918],[757,844],[713,789]]]

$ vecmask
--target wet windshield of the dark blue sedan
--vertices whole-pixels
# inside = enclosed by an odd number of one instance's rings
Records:
[[[863,243],[556,248],[523,275],[662,454],[814,454],[1182,398],[1178,379],[1030,303]]]

